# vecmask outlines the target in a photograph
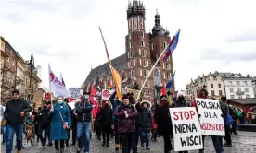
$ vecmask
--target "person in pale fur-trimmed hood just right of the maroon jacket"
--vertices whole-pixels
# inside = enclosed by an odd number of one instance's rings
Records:
[[[150,112],[151,103],[147,100],[143,100],[140,105],[143,107],[142,112],[139,113],[141,118],[141,127],[142,132],[140,136],[141,140],[141,147],[144,147],[146,143],[146,149],[150,150],[149,148],[149,139],[150,139],[150,131],[152,129],[152,114]]]

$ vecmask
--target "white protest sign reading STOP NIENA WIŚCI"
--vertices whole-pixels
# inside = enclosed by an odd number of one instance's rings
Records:
[[[170,108],[169,111],[173,123],[174,151],[203,148],[196,108]]]

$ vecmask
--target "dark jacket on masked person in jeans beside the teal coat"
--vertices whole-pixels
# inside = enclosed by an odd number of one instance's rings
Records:
[[[77,122],[91,122],[93,104],[88,103],[85,100],[76,104]]]

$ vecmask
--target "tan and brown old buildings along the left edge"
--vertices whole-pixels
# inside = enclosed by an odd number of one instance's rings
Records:
[[[29,94],[37,91],[41,79],[37,76],[37,69],[32,70],[32,89],[30,89],[31,71],[28,61],[13,49],[6,39],[1,40],[1,102],[11,99],[11,92],[19,89],[20,96],[25,100]]]

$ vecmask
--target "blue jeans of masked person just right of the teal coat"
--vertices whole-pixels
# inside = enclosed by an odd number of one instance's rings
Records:
[[[89,152],[91,136],[91,122],[77,122],[78,147],[84,146],[84,152]],[[83,144],[84,138],[84,144]]]

